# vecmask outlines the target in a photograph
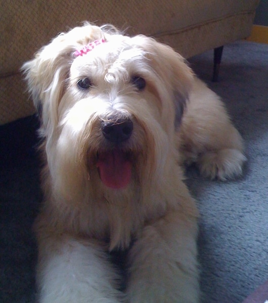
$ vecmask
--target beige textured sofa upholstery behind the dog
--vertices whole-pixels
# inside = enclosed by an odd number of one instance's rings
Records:
[[[19,74],[57,33],[112,23],[170,44],[186,58],[246,37],[258,0],[0,0],[0,124],[34,112]]]

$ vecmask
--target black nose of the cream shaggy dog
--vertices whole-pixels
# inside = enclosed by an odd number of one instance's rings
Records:
[[[133,122],[130,119],[102,121],[101,128],[107,140],[113,143],[121,143],[131,136]]]

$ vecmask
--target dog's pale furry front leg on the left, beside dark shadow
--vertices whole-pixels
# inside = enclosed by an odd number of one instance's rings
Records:
[[[39,239],[40,303],[118,303],[117,279],[98,243],[66,235]]]

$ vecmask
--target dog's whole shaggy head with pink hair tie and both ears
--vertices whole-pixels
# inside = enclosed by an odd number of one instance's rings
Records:
[[[24,71],[52,184],[65,197],[163,174],[193,80],[171,48],[85,25],[56,37]]]

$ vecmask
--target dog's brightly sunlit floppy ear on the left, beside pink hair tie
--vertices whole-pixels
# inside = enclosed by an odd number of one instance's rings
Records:
[[[103,38],[100,27],[86,24],[59,34],[22,66],[42,131],[57,127],[57,108],[64,93],[74,52],[91,41]],[[53,131],[53,129],[50,129]],[[45,135],[43,133],[43,135]]]

